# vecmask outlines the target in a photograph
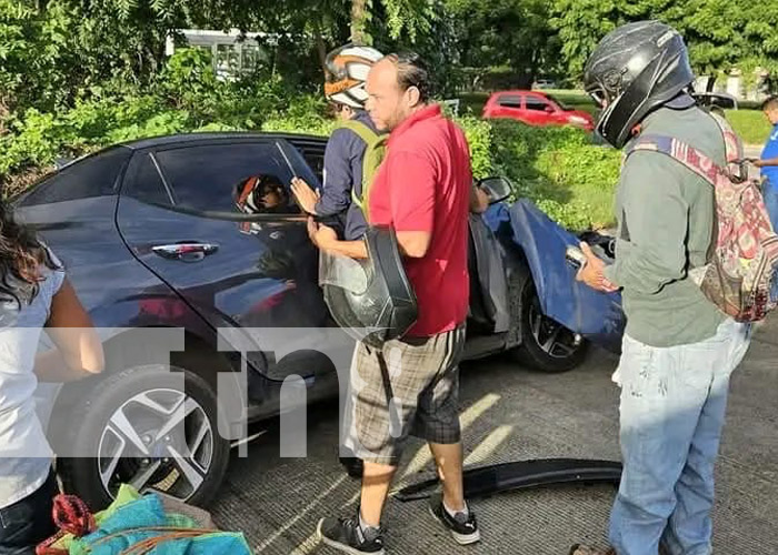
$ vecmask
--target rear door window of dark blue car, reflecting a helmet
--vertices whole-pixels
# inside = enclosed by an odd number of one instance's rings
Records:
[[[177,206],[297,214],[291,170],[275,143],[207,144],[156,153]]]

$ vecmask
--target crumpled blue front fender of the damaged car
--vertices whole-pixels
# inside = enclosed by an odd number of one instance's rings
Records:
[[[485,219],[495,233],[508,234],[521,246],[543,313],[594,343],[618,350],[625,316],[620,293],[601,293],[576,281],[576,269],[565,259],[579,239],[548,218],[531,201],[493,204]]]

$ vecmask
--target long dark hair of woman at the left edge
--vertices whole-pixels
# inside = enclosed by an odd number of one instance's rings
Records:
[[[10,206],[0,200],[0,302],[29,304],[46,279],[41,265],[60,270],[51,253],[34,233],[13,219]]]

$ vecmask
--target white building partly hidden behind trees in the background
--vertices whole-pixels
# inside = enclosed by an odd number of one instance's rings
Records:
[[[201,48],[211,53],[213,69],[219,79],[235,79],[240,73],[251,72],[260,62],[269,61],[272,56],[269,50],[259,44],[257,39],[272,41],[275,36],[262,32],[241,33],[237,29],[216,31],[208,29],[179,29],[189,47]],[[166,54],[172,56],[176,42],[168,37]]]

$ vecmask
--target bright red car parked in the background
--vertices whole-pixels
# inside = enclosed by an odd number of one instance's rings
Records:
[[[528,125],[573,125],[595,130],[595,119],[582,110],[566,107],[552,95],[538,91],[500,91],[489,97],[483,118],[509,118]]]

